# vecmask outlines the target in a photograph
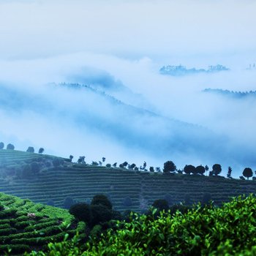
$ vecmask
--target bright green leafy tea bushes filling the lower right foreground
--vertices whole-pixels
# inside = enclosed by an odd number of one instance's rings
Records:
[[[221,208],[197,205],[186,214],[133,214],[100,241],[91,239],[83,253],[73,239],[50,244],[40,255],[256,255],[255,205],[256,197],[249,195]]]

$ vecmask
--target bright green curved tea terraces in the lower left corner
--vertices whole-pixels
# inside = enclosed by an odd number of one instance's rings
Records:
[[[75,225],[73,220],[67,210],[0,193],[0,255],[42,249],[50,241],[63,240],[66,233],[74,234],[75,228],[81,232],[84,223]]]

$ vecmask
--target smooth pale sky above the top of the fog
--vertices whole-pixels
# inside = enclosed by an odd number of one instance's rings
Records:
[[[0,1],[0,58],[256,50],[256,1]]]

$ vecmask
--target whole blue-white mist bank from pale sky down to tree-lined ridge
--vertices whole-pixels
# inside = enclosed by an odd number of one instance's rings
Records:
[[[255,97],[204,92],[255,91],[254,70],[173,78],[154,59],[94,53],[0,67],[1,140],[18,149],[139,166],[220,163],[233,173],[256,166]]]

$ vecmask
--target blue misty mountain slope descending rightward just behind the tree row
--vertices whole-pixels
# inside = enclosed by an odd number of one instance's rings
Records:
[[[162,166],[167,159],[180,167],[254,165],[255,151],[249,146],[240,151],[242,146],[225,135],[127,105],[91,86],[50,83],[29,91],[1,84],[0,90],[1,132],[17,136],[26,147],[43,146],[64,157],[85,155],[89,162],[104,155],[138,165],[146,160]]]

